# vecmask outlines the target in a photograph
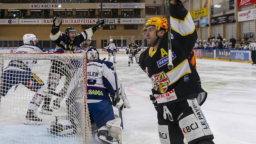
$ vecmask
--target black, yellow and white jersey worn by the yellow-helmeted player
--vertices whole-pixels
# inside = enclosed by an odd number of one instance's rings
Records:
[[[179,1],[170,6],[172,63],[168,69],[168,33],[160,39],[157,50],[148,47],[141,53],[139,64],[152,81],[152,93],[157,106],[169,105],[186,99],[197,98],[200,93],[200,79],[195,70],[192,49],[197,32],[190,13]]]

